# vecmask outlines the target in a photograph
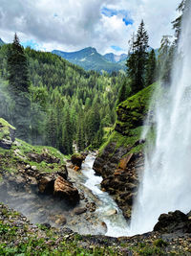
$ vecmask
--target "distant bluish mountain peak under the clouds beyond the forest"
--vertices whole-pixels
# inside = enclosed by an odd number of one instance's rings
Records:
[[[71,53],[58,50],[53,50],[52,53],[62,58],[66,58],[70,62],[83,67],[85,70],[96,70],[97,72],[107,71],[108,73],[112,73],[113,71],[125,71],[126,69],[124,63],[111,60],[115,59],[115,55],[112,58],[111,55],[113,54],[109,54],[109,57],[111,58],[105,58],[105,56],[97,53],[96,49],[92,47]],[[124,56],[120,56],[118,59],[124,59]]]

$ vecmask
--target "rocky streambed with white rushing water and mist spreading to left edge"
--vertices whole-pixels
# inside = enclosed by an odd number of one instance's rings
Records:
[[[66,227],[79,234],[106,235],[120,237],[128,235],[128,223],[115,200],[101,191],[102,177],[96,175],[93,164],[96,155],[89,154],[80,172],[68,168],[69,180],[77,188],[80,199],[76,206],[70,206],[60,198],[41,195],[35,185],[18,187],[12,182],[0,184],[0,201],[21,212],[32,223],[50,223],[54,227]],[[90,205],[96,205],[91,210]],[[85,209],[82,214],[76,214],[77,209]]]

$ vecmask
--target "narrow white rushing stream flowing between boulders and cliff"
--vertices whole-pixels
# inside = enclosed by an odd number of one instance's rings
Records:
[[[107,225],[107,233],[105,235],[111,237],[126,236],[128,235],[128,223],[115,200],[107,192],[101,191],[100,183],[102,177],[96,175],[93,170],[95,159],[95,155],[89,154],[82,164],[82,183],[98,198],[96,212]]]

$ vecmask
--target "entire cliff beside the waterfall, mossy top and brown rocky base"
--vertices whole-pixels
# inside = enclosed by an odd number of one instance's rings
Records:
[[[115,130],[94,163],[96,174],[103,176],[103,190],[113,195],[127,219],[143,170],[144,142],[139,138],[154,88],[152,84],[117,106]]]

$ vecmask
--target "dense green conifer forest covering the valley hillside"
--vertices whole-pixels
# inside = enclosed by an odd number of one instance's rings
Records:
[[[17,134],[23,128],[27,131],[25,137],[19,137],[68,154],[73,151],[74,141],[79,151],[90,145],[99,147],[102,128],[112,127],[116,121],[117,94],[123,75],[86,72],[51,53],[21,47],[31,83],[26,83],[27,95],[19,91],[19,86],[15,87],[18,93],[11,93],[11,81],[8,85],[6,81],[10,78],[8,70],[13,74],[15,70],[13,64],[9,67],[10,49],[11,45],[0,47],[0,116],[17,128]]]

